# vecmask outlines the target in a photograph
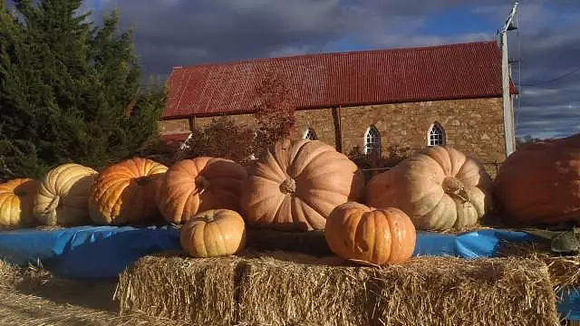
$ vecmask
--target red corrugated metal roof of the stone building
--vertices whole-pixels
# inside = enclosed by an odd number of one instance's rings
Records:
[[[298,109],[501,96],[501,53],[490,41],[179,67],[163,118],[252,111],[266,72],[285,79]]]

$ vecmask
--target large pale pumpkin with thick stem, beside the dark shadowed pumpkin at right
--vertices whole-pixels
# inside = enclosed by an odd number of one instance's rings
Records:
[[[367,204],[397,207],[421,230],[476,225],[491,209],[491,178],[473,158],[457,149],[421,150],[372,177]]]

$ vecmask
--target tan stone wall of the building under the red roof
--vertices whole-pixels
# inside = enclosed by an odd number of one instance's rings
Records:
[[[365,131],[374,125],[381,134],[382,150],[392,145],[423,149],[434,122],[445,131],[446,144],[484,163],[495,176],[498,163],[506,158],[503,107],[501,98],[420,101],[358,107],[335,108],[340,116],[342,151],[354,146],[364,148]],[[230,116],[237,123],[256,127],[251,114]],[[313,129],[318,139],[336,146],[332,109],[297,110],[293,136],[302,138],[306,129]],[[203,127],[211,117],[195,118],[194,125]],[[166,133],[187,132],[189,120],[165,120]]]

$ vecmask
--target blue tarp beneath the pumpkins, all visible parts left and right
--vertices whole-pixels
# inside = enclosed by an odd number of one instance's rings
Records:
[[[493,257],[500,241],[524,242],[523,232],[479,230],[459,235],[419,232],[413,255]],[[23,229],[0,233],[0,258],[13,264],[41,262],[69,278],[114,278],[141,256],[177,250],[179,232],[168,226],[79,226],[56,230]],[[558,311],[580,320],[580,289],[558,292]]]

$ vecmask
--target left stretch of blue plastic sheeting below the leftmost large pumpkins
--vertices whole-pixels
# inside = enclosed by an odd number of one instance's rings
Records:
[[[179,232],[167,226],[79,226],[0,233],[0,258],[19,265],[40,261],[68,278],[117,277],[141,256],[173,249],[180,249]]]

